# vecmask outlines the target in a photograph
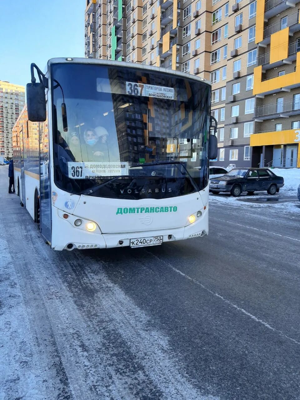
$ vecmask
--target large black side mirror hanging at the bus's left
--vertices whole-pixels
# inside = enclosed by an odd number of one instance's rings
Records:
[[[28,120],[32,122],[46,121],[45,86],[42,83],[26,85],[26,100]]]

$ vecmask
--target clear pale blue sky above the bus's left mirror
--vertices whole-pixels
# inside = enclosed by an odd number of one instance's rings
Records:
[[[0,80],[30,82],[30,64],[84,57],[86,0],[0,0]]]

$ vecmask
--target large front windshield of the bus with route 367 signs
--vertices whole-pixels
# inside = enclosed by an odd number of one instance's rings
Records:
[[[210,86],[174,74],[53,64],[54,179],[74,194],[166,198],[207,185]]]

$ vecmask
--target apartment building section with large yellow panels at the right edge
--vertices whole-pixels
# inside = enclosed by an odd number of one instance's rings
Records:
[[[252,165],[300,167],[300,2],[257,4]]]

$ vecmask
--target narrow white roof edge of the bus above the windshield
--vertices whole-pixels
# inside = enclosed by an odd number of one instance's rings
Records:
[[[67,58],[50,58],[48,61],[48,66],[51,64],[58,64],[58,63],[79,63],[79,64],[98,64],[98,65],[108,65],[108,66],[122,66],[126,68],[133,68],[133,69],[142,69],[147,72],[164,72],[166,74],[170,75],[175,75],[178,76],[179,78],[183,79],[191,79],[195,80],[197,82],[202,82],[205,84],[208,84],[211,86],[210,81],[200,78],[199,76],[195,76],[192,74],[188,74],[187,72],[181,72],[181,71],[176,71],[176,70],[170,70],[168,68],[162,68],[162,67],[155,67],[155,66],[148,66],[145,64],[138,64],[136,62],[125,62],[125,61],[116,61],[116,60],[100,60],[96,58],[73,58],[73,57],[67,57]]]

